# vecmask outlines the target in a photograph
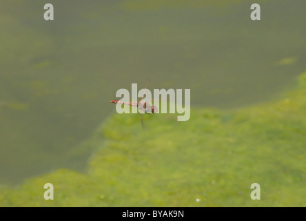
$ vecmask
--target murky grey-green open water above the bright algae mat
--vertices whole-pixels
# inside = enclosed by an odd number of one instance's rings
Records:
[[[176,2],[176,3],[174,3]],[[226,3],[225,3],[226,2]],[[306,1],[1,1],[0,183],[61,167],[132,83],[191,88],[193,106],[276,97],[305,68]]]

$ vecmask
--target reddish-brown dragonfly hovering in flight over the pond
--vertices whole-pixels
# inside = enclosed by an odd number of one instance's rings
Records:
[[[145,86],[145,89],[147,89],[148,84],[149,84],[149,80],[147,80],[147,84]],[[145,93],[143,93],[143,97],[144,96],[145,96]],[[119,100],[111,100],[110,103],[136,106],[139,109],[139,112],[142,113],[141,114],[141,126],[144,128],[143,113],[157,113],[159,111],[159,109],[156,106],[152,105],[151,102],[145,101],[143,99],[143,97],[141,97],[140,102],[121,102]]]

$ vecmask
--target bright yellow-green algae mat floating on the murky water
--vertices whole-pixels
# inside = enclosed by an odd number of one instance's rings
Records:
[[[305,93],[306,72],[278,102],[194,108],[188,122],[146,115],[145,130],[137,115],[114,115],[83,144],[99,147],[88,173],[3,186],[0,206],[306,206]],[[43,198],[48,182],[54,200]],[[250,199],[254,182],[261,200]]]

